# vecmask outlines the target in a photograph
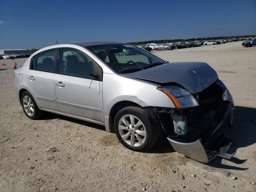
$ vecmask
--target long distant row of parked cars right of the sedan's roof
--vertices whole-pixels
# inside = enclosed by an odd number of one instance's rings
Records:
[[[202,45],[217,45],[224,44],[227,42],[233,41],[242,41],[242,40],[250,40],[253,38],[232,38],[232,39],[219,39],[219,40],[209,40],[209,41],[190,41],[190,42],[173,42],[173,43],[164,43],[164,44],[156,44],[149,43],[146,45],[138,45],[140,48],[144,48],[147,51],[151,50],[173,50],[173,49],[181,49],[181,48],[190,48],[190,47],[199,47]]]

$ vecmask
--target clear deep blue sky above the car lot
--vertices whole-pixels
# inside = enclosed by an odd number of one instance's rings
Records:
[[[256,0],[0,0],[0,49],[256,34]]]

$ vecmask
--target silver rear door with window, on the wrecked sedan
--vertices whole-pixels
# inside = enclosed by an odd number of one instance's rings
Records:
[[[34,56],[28,70],[28,88],[39,108],[58,111],[56,102],[54,72],[56,49]]]

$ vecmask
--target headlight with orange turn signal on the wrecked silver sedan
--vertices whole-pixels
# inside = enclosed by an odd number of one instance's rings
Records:
[[[186,89],[177,86],[158,87],[157,89],[166,94],[172,100],[176,108],[199,106],[194,96]]]

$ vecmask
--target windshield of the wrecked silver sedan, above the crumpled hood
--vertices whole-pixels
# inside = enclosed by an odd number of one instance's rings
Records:
[[[118,73],[130,73],[161,65],[164,60],[130,44],[86,47]]]

